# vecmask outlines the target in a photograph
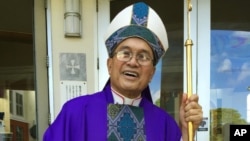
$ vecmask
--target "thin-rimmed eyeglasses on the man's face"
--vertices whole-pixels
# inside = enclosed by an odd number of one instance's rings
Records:
[[[129,50],[120,50],[115,52],[114,55],[116,55],[116,58],[119,61],[123,62],[128,62],[133,58],[133,53]],[[151,62],[153,62],[153,59],[146,52],[136,54],[136,60],[142,66],[148,66]]]

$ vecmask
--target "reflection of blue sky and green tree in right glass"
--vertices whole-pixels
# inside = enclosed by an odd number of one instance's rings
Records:
[[[250,79],[250,32],[211,31],[211,136],[222,140],[224,126],[246,124]]]

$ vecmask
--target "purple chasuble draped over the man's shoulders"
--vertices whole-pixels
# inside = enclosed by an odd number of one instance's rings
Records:
[[[154,105],[149,88],[142,92],[147,141],[180,141],[181,132],[175,120]],[[43,141],[107,141],[107,106],[114,103],[110,83],[103,91],[72,99],[64,104],[55,121],[48,127]]]

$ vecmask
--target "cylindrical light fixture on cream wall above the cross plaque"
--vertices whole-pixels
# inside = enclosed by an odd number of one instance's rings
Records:
[[[81,0],[65,0],[64,35],[81,37]]]

